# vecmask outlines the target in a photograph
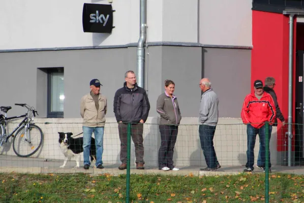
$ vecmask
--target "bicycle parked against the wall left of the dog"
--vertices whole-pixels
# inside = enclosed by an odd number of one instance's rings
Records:
[[[41,147],[43,142],[43,132],[40,127],[31,123],[34,121],[34,117],[37,111],[28,106],[27,104],[15,104],[16,106],[25,107],[27,109],[26,113],[21,116],[7,117],[7,112],[12,109],[12,107],[0,107],[0,110],[5,113],[5,116],[0,113],[0,147],[7,143],[10,137],[13,137],[13,150],[15,154],[19,157],[29,157],[35,154]],[[12,119],[23,118],[24,119],[18,124],[18,126],[8,135],[8,123]],[[35,130],[37,133],[35,133]],[[16,132],[17,131],[17,132]],[[14,134],[16,132],[16,134]],[[36,142],[34,136],[38,134],[38,142]],[[40,141],[39,141],[40,139]],[[21,147],[25,146],[25,149]],[[17,152],[18,151],[18,152]],[[22,154],[22,152],[25,152]]]

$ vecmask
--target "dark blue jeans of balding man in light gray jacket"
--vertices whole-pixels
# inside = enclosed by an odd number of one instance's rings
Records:
[[[214,134],[216,132],[216,126],[211,125],[199,125],[199,139],[201,148],[209,168],[216,168],[219,164],[217,154],[213,144]]]

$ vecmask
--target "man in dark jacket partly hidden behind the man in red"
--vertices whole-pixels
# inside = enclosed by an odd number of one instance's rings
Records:
[[[278,126],[278,118],[280,119],[280,121],[282,122],[283,126],[285,125],[285,119],[284,116],[280,110],[279,104],[278,104],[278,99],[277,99],[277,94],[275,92],[275,90],[273,90],[273,88],[275,88],[276,86],[276,80],[275,78],[272,77],[267,77],[265,79],[265,87],[263,88],[265,92],[267,92],[268,94],[271,95],[273,102],[275,103],[275,107],[276,107],[276,113],[277,116],[275,118],[275,122],[273,123],[272,126]],[[261,144],[260,144],[260,149],[261,149]],[[257,167],[261,168],[261,152],[259,151],[259,156],[258,156],[258,163],[257,163]]]

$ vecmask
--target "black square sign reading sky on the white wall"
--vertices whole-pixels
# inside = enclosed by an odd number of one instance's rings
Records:
[[[84,32],[111,33],[113,28],[112,5],[83,4],[82,27]]]

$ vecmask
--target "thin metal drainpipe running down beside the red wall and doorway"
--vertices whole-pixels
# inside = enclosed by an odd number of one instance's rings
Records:
[[[292,151],[292,65],[293,65],[293,16],[289,15],[289,71],[288,71],[288,166],[291,166]]]

